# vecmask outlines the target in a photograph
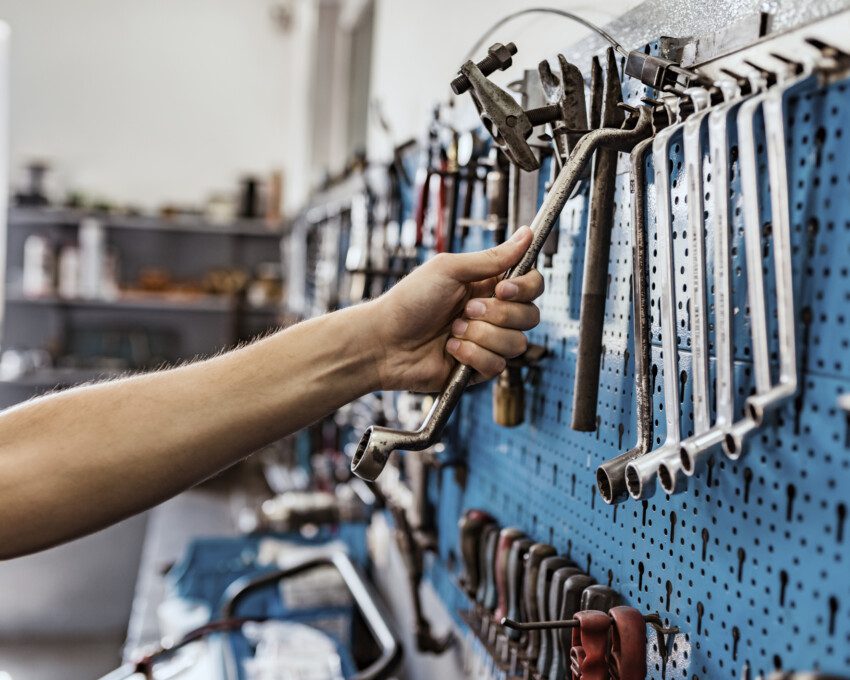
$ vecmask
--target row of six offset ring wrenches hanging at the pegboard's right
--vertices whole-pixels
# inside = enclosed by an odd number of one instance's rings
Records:
[[[650,142],[632,152],[633,228],[635,234],[635,338],[637,352],[637,445],[625,454],[599,467],[599,492],[608,503],[651,496],[659,484],[668,493],[686,488],[687,479],[702,470],[718,448],[731,459],[739,458],[745,443],[768,414],[797,391],[796,324],[792,267],[791,217],[788,205],[788,168],[785,150],[784,107],[789,96],[816,89],[825,78],[846,71],[848,57],[834,48],[810,41],[813,48],[803,61],[774,55],[775,65],[751,64],[752,71],[732,76],[713,88],[689,88],[677,93],[690,101],[687,117],[655,135],[651,142],[651,162],[655,170],[656,228],[660,290],[661,354],[664,381],[663,410],[666,422],[664,441],[652,449],[652,402],[647,398],[650,339],[647,332],[644,190],[645,155]],[[758,122],[763,121],[767,156],[769,198],[760,202]],[[691,379],[693,385],[693,435],[681,431],[679,394],[678,334],[675,318],[676,282],[673,266],[673,225],[670,150],[682,140],[687,195],[687,234],[691,266],[687,288],[691,292]],[[743,233],[747,275],[747,303],[752,340],[755,393],[747,397],[743,413],[735,409],[733,306],[730,257],[730,149],[737,139],[738,170],[741,181]],[[713,183],[713,205],[704,204],[703,148],[707,141]],[[711,421],[709,397],[709,308],[707,303],[706,216],[714,232],[713,289],[716,347],[715,408]],[[765,224],[770,223],[766,229]],[[763,232],[769,234],[775,273],[775,311],[778,333],[779,370],[771,376],[768,337],[768,300],[765,294]],[[648,434],[649,432],[649,434]]]

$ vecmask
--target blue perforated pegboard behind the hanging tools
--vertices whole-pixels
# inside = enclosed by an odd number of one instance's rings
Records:
[[[626,79],[624,92],[634,100],[643,90]],[[675,637],[666,669],[671,680],[739,677],[745,663],[751,677],[780,667],[836,673],[850,667],[850,527],[845,525],[850,449],[847,422],[836,407],[837,396],[850,391],[850,140],[843,129],[848,110],[845,82],[792,97],[786,107],[800,396],[753,437],[740,461],[715,455],[709,471],[692,479],[683,494],[665,497],[659,491],[642,503],[609,507],[595,489],[597,465],[635,441],[626,174],[618,176],[615,196],[600,426],[590,434],[569,428],[587,196],[567,204],[559,252],[553,267],[542,269],[546,278],[542,322],[530,334],[552,354],[527,394],[526,423],[515,429],[494,424],[490,390],[477,388],[464,397],[454,429],[446,437],[450,453],[465,457],[469,470],[463,489],[449,473],[432,486],[440,544],[429,575],[450,610],[468,607],[453,572],[457,519],[464,509],[478,507],[503,526],[517,526],[536,540],[553,543],[599,582],[618,589],[629,604],[658,611],[678,626],[681,633]],[[760,120],[756,130],[763,136]],[[687,215],[685,187],[679,181],[681,151],[681,138],[674,139],[670,160],[680,350],[680,375],[674,379],[684,387],[682,431],[687,435],[693,431],[690,254],[683,238]],[[762,222],[767,225],[763,139],[759,155]],[[707,151],[704,171],[707,199],[714,191],[731,191],[736,409],[741,413],[752,388],[752,363],[740,205],[753,197],[741,196],[737,163],[731,187],[712,185]],[[661,394],[668,376],[660,360],[651,163],[648,176],[654,439],[660,443]],[[711,206],[707,200],[709,263]],[[487,235],[473,231],[463,248],[486,245]],[[770,301],[775,288],[768,229],[763,246]],[[710,269],[708,278],[710,282]],[[808,326],[803,322],[804,309],[811,310]],[[769,312],[775,371],[776,319],[770,306]],[[710,370],[713,402],[713,359]],[[651,677],[660,678],[657,641],[651,640]]]

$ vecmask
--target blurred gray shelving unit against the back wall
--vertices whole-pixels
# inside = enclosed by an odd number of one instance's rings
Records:
[[[214,268],[253,271],[280,261],[282,228],[259,220],[214,224],[196,217],[116,216],[53,208],[12,208],[6,236],[6,285],[0,346],[43,349],[55,359],[14,379],[0,380],[0,407],[35,394],[149,366],[93,366],[75,355],[80,343],[116,342],[130,336],[151,345],[157,365],[191,360],[232,347],[274,327],[275,306],[251,307],[239,296],[133,294],[117,299],[30,298],[21,293],[24,241],[47,237],[58,249],[75,243],[87,217],[104,226],[119,254],[119,279],[133,282],[145,268],[167,270],[175,280],[200,279]],[[85,339],[81,339],[81,338]],[[108,363],[108,362],[107,362]]]

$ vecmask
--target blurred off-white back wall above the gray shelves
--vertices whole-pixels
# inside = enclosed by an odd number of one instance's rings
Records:
[[[66,189],[153,207],[283,167],[298,200],[314,2],[299,3],[285,34],[277,0],[0,0],[12,168],[45,158]]]

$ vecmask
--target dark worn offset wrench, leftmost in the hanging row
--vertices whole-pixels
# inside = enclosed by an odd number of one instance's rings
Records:
[[[629,497],[626,488],[626,465],[644,455],[652,446],[652,394],[649,366],[652,350],[649,339],[649,271],[646,263],[646,154],[653,138],[635,146],[630,156],[632,198],[632,326],[635,338],[635,403],[637,408],[637,441],[625,453],[608,460],[596,469],[596,487],[608,503],[619,503]]]

